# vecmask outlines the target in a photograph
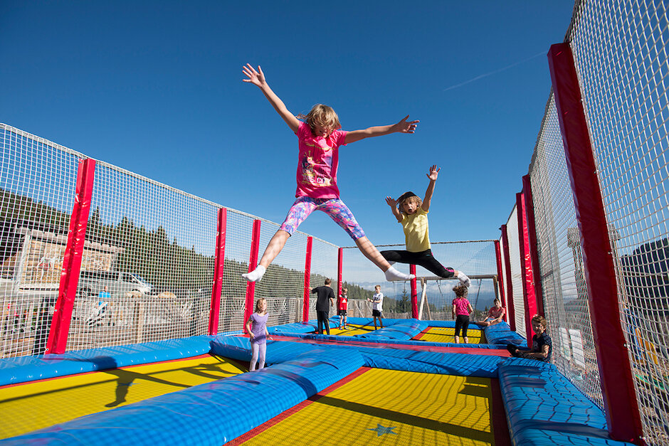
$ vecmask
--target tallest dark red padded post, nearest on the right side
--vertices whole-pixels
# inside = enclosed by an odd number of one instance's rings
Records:
[[[583,252],[588,304],[596,345],[604,413],[613,440],[643,445],[633,372],[620,324],[618,286],[597,166],[569,43],[548,53],[555,107]]]

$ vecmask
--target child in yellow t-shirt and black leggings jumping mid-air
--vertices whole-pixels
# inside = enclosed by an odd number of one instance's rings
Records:
[[[404,228],[406,250],[386,250],[381,251],[381,255],[391,265],[395,262],[421,265],[426,270],[444,279],[455,276],[468,287],[471,285],[469,277],[462,271],[453,270],[451,267],[443,267],[434,258],[430,248],[427,214],[430,211],[432,193],[440,170],[441,168],[437,169],[436,165],[430,168],[430,172],[427,174],[430,184],[428,184],[423,200],[411,191],[403,193],[397,200],[386,196],[386,203],[390,206],[391,212],[397,222],[401,223],[402,228]]]

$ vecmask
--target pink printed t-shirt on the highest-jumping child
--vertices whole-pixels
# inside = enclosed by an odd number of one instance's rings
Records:
[[[339,198],[337,165],[339,146],[345,145],[347,132],[335,130],[327,138],[315,137],[309,124],[297,128],[300,154],[297,157],[297,191],[295,196]]]

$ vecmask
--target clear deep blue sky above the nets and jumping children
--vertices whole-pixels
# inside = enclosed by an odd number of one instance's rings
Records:
[[[403,243],[384,202],[442,167],[431,240],[499,238],[550,91],[570,1],[11,1],[0,14],[0,122],[280,223],[297,139],[288,110],[343,129],[418,119],[342,148],[339,189],[376,244]],[[300,230],[352,240],[323,213]]]

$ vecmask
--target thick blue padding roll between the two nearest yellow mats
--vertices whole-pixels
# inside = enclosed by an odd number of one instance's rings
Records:
[[[360,368],[362,356],[312,349],[292,361],[87,415],[1,445],[222,445]]]

